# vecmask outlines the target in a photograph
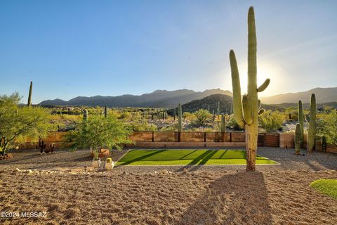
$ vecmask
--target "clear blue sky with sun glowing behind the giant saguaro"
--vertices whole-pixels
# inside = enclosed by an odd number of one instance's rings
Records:
[[[247,79],[254,6],[260,96],[337,86],[337,1],[0,1],[0,94],[33,103],[157,89],[232,90]]]

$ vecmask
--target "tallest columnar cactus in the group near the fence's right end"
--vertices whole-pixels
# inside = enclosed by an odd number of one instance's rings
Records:
[[[308,129],[308,151],[311,152],[315,148],[316,137],[316,96],[311,94],[310,98],[310,114],[305,114],[305,120],[309,123]]]

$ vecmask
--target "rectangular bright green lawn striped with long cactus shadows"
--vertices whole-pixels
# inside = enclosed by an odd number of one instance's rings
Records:
[[[257,156],[256,164],[277,162]],[[130,150],[117,165],[246,165],[245,150]]]

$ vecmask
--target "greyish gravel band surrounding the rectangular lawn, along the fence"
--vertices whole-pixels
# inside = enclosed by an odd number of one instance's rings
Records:
[[[226,149],[226,148],[221,148]],[[228,148],[242,149],[242,148]],[[111,155],[114,161],[118,160],[127,150],[121,152],[114,151]],[[337,155],[331,153],[307,153],[303,150],[303,155],[293,155],[294,150],[291,148],[267,148],[259,147],[258,155],[275,160],[279,165],[257,165],[258,171],[266,170],[337,170]],[[88,150],[78,150],[70,152],[67,150],[57,151],[53,154],[39,155],[37,150],[22,150],[13,152],[13,159],[1,160],[0,168],[4,169],[48,169],[52,167],[84,167],[91,165],[91,158]],[[114,168],[117,172],[159,172],[168,170],[170,172],[181,172],[184,169],[199,172],[216,172],[216,171],[244,171],[245,165],[187,165],[187,166],[117,166]]]

